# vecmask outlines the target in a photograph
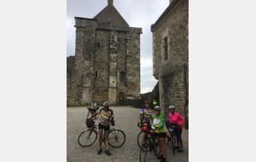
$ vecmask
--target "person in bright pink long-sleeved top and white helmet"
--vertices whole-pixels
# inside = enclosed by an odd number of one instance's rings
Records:
[[[175,112],[174,106],[170,106],[169,110],[171,111],[171,113],[169,114],[170,122],[177,123],[177,129],[175,129],[176,136],[177,136],[177,146],[175,148],[178,149],[177,153],[182,153],[183,152],[183,140],[181,138],[181,135],[182,135],[182,130],[183,130],[184,119],[179,113]],[[178,145],[180,145],[180,148],[178,147]]]

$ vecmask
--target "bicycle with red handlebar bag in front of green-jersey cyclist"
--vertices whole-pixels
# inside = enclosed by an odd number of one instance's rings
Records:
[[[149,126],[148,126],[149,125]],[[144,162],[148,152],[154,151],[156,156],[160,155],[160,148],[156,141],[155,131],[151,129],[150,124],[144,123],[141,132],[137,137],[137,142],[143,138],[143,142],[139,144],[140,148],[140,161]]]

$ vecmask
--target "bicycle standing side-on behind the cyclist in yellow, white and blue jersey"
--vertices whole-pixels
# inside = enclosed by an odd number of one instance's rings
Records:
[[[93,120],[92,120],[93,121]],[[111,122],[110,125],[114,125],[114,122]],[[78,138],[79,145],[81,147],[90,147],[94,142],[96,142],[97,136],[100,135],[97,131],[97,124],[93,121],[91,127],[87,130],[84,130]],[[88,127],[88,125],[87,125]],[[105,144],[104,133],[102,136],[102,142]],[[119,148],[125,143],[125,132],[119,128],[112,128],[108,133],[108,144],[113,148]]]

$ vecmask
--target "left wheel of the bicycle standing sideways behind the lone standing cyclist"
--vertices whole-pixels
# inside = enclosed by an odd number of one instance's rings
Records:
[[[81,147],[90,147],[94,142],[96,142],[97,134],[95,130],[85,130],[78,138],[79,145]]]

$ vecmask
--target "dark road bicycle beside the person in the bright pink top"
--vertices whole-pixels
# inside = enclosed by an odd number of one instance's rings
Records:
[[[175,129],[177,129],[177,123],[166,122],[166,145],[171,143],[172,145],[172,153],[175,153],[175,146],[177,145],[177,136]]]

